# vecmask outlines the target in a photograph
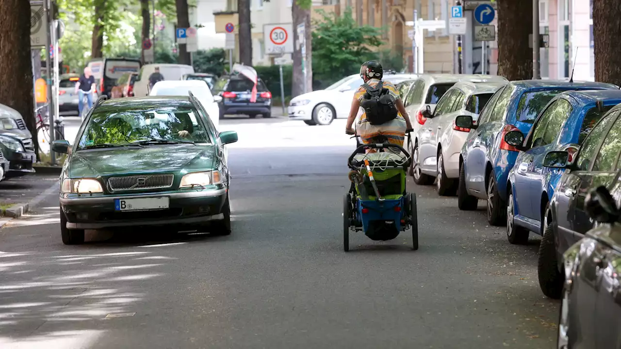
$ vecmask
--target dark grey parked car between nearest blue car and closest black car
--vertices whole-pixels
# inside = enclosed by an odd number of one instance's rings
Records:
[[[550,201],[551,233],[543,234],[538,266],[542,291],[553,298],[561,297],[563,288],[563,253],[593,227],[593,220],[584,209],[589,190],[599,186],[610,188],[621,168],[621,104],[613,107],[597,122],[584,139],[577,153],[548,152],[543,165],[566,168]],[[578,145],[576,145],[578,148]],[[547,225],[547,224],[546,224]]]

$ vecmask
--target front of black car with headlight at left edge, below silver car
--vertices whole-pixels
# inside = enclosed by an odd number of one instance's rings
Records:
[[[37,156],[32,147],[32,139],[24,137],[20,130],[0,130],[0,151],[9,161],[6,178],[35,172],[32,163],[37,161]]]

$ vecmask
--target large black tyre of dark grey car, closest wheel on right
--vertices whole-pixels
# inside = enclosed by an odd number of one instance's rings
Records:
[[[563,292],[563,281],[565,278],[558,268],[553,230],[552,213],[550,211],[550,203],[548,202],[543,218],[543,238],[539,245],[537,274],[539,287],[542,289],[543,294],[552,299],[559,299]]]

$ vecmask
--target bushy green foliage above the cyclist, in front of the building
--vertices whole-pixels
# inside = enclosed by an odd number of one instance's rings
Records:
[[[381,29],[358,25],[351,8],[342,16],[317,12],[323,17],[314,21],[312,30],[312,68],[317,79],[336,81],[358,73],[363,62],[377,57],[371,48],[381,45]]]

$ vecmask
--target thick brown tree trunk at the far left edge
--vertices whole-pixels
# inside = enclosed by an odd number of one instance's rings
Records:
[[[34,116],[32,57],[30,52],[30,2],[2,0],[0,11],[0,103],[22,114],[39,157],[37,121]]]

